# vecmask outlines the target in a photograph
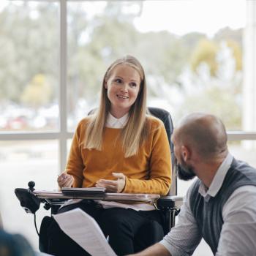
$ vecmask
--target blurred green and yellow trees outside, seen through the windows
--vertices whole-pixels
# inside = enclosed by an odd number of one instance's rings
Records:
[[[137,5],[137,12],[124,7]],[[192,32],[178,37],[169,31],[138,31],[133,20],[143,10],[143,1],[113,1],[104,12],[90,18],[80,4],[68,5],[67,88],[69,112],[78,99],[93,105],[106,67],[126,54],[137,56],[146,69],[151,97],[164,97],[162,86],[176,87],[183,94],[183,76],[191,72],[194,94],[184,91],[181,105],[174,105],[178,117],[192,110],[208,110],[222,117],[232,128],[241,127],[241,30],[220,30],[213,39]],[[225,41],[236,62],[233,77],[223,83],[217,56]],[[208,82],[200,67],[206,64]],[[198,88],[200,84],[200,88]],[[211,87],[209,87],[211,85]],[[153,89],[159,88],[159,90]],[[28,2],[10,4],[0,11],[0,100],[35,109],[58,102],[59,7],[43,2],[33,15]],[[172,104],[172,99],[170,99]],[[230,109],[233,111],[230,113]]]

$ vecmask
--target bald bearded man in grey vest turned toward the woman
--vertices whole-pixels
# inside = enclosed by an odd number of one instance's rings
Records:
[[[192,255],[203,237],[214,255],[256,255],[256,170],[227,150],[219,118],[190,114],[173,133],[178,176],[197,176],[178,225],[136,256]]]

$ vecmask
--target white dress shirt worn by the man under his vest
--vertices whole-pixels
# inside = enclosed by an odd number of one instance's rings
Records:
[[[222,187],[233,157],[228,154],[219,166],[210,187],[203,184],[198,192],[209,200]],[[172,256],[192,255],[202,238],[189,206],[190,189],[178,214],[178,223],[160,242]],[[216,256],[256,255],[256,187],[236,189],[222,208],[223,225]]]

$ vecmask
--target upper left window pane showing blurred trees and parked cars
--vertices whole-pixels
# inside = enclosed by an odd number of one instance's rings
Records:
[[[0,130],[56,131],[59,6],[47,1],[8,1],[0,15]]]

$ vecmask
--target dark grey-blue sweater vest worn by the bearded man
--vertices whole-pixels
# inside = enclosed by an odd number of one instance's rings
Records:
[[[221,189],[219,189],[217,195],[211,197],[208,202],[198,193],[198,188],[201,183],[202,181],[197,179],[192,185],[189,205],[203,238],[215,255],[223,225],[222,208],[230,195],[238,189],[238,187],[246,185],[256,186],[256,169],[250,167],[245,162],[233,159]]]

